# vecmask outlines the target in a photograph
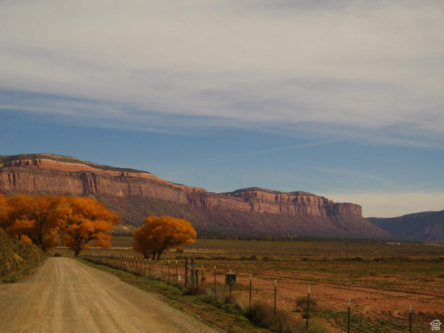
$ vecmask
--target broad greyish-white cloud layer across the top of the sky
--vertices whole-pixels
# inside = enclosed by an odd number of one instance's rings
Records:
[[[323,124],[318,141],[444,135],[441,1],[5,1],[0,15],[0,89],[44,95],[4,110],[153,131]]]

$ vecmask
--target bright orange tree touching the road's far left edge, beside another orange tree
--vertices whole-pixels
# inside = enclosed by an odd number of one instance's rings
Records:
[[[107,210],[106,206],[93,198],[67,197],[66,203],[60,207],[64,226],[61,230],[63,244],[74,250],[78,256],[82,250],[94,246],[109,247],[109,233],[120,217]]]

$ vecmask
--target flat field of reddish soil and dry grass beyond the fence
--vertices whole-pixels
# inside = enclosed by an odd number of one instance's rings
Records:
[[[129,247],[131,237],[113,238],[114,248],[91,249],[87,253],[138,256]],[[62,254],[64,249],[58,249]],[[253,277],[254,301],[273,302],[274,279],[277,279],[277,307],[301,317],[296,301],[317,298],[313,316],[326,319],[332,331],[343,332],[348,297],[352,302],[352,328],[361,332],[399,332],[407,329],[408,304],[412,304],[414,331],[428,331],[429,323],[444,318],[444,247],[420,243],[401,246],[383,242],[352,241],[243,241],[198,239],[183,253],[167,252],[163,259],[171,262],[170,279],[183,276],[183,258],[196,258],[204,266],[207,283],[217,281],[233,270],[237,285],[233,293],[248,304],[250,274]],[[352,260],[353,259],[353,260]],[[144,262],[142,261],[144,265]],[[160,274],[160,262],[153,261],[152,274]],[[143,268],[148,267],[143,266]]]

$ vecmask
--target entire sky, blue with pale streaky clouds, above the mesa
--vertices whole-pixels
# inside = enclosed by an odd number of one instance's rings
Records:
[[[1,6],[0,155],[444,209],[441,1]]]

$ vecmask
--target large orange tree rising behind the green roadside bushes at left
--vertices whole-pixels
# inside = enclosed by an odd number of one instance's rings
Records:
[[[16,194],[14,198],[7,199],[9,209],[3,222],[6,232],[11,236],[30,240],[45,252],[52,250],[57,246],[61,225],[57,207],[62,200],[63,197],[33,197],[26,194]]]

